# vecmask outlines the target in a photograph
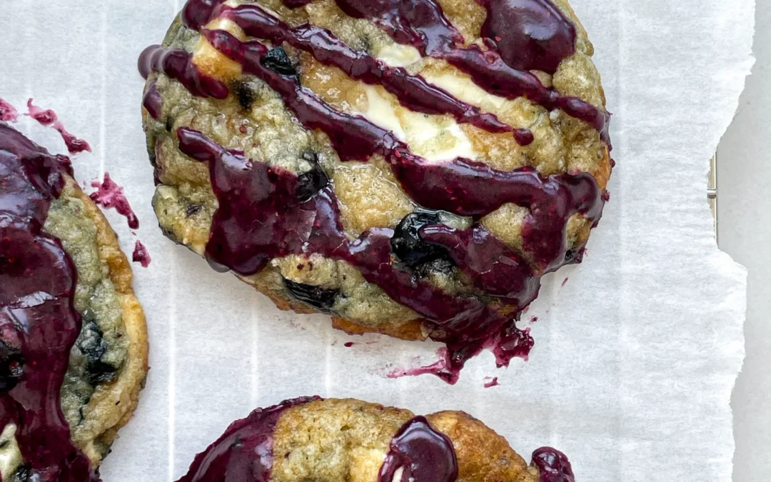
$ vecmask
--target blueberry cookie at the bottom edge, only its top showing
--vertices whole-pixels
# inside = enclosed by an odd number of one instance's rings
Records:
[[[564,453],[528,465],[463,412],[415,416],[355,399],[307,397],[254,410],[195,457],[178,482],[574,482]]]

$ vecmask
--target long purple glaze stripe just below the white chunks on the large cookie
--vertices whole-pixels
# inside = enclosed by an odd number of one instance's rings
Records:
[[[268,52],[263,43],[240,42],[222,30],[204,31],[204,35],[215,48],[241,62],[244,72],[258,76],[280,93],[303,126],[324,131],[342,160],[367,160],[375,153],[382,154],[407,194],[424,207],[483,216],[509,202],[527,207],[554,202],[551,191],[575,188],[577,193],[571,195],[574,199],[569,201],[580,201],[575,207],[577,211],[594,211],[592,214],[601,211],[600,190],[590,174],[541,180],[533,168],[500,171],[463,158],[446,163],[426,161],[410,152],[390,131],[362,116],[335,110],[302,87],[297,79],[262,66],[261,57]],[[562,182],[562,178],[570,181]],[[567,204],[571,204],[569,201]]]

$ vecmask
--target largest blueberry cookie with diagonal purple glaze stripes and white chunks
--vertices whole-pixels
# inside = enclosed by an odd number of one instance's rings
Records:
[[[566,0],[190,0],[139,62],[160,227],[448,379],[505,365],[608,199],[592,55]]]

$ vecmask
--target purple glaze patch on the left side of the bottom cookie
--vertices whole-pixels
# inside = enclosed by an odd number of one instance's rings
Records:
[[[195,457],[187,475],[177,482],[270,482],[273,433],[281,413],[318,399],[286,400],[231,423],[216,442]]]

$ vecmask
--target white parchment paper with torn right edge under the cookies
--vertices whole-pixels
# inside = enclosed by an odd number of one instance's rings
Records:
[[[91,143],[74,157],[79,180],[108,170],[126,187],[153,257],[134,265],[152,369],[106,482],[175,480],[232,420],[311,394],[466,410],[528,459],[541,445],[564,450],[582,482],[730,480],[745,271],[715,247],[705,185],[752,66],[753,0],[573,0],[614,113],[611,203],[584,264],[547,277],[524,315],[538,318],[530,361],[495,370],[485,354],[456,386],[378,374],[431,361],[438,345],[350,337],[325,316],[279,312],[160,234],[136,58],[181,3],[0,6],[0,97],[22,111],[34,97]],[[16,126],[65,152],[53,130]],[[130,253],[136,237],[109,217]],[[501,385],[483,388],[486,376]]]

